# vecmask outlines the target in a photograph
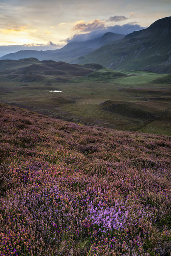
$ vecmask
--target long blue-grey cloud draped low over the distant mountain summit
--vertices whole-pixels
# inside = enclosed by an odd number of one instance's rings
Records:
[[[103,36],[107,32],[113,32],[113,33],[117,33],[117,34],[127,35],[127,34],[132,33],[133,31],[138,31],[141,29],[144,29],[144,27],[141,27],[138,24],[129,24],[129,23],[124,24],[122,26],[120,26],[120,25],[109,26],[109,27],[105,27],[103,29],[92,31],[87,34],[75,34],[75,35],[73,35],[72,38],[67,38],[66,42],[70,43],[70,42],[82,42],[82,41],[92,40],[97,37]]]

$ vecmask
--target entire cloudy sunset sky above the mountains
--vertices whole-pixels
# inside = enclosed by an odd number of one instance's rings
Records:
[[[52,50],[105,32],[126,35],[170,14],[170,0],[0,0],[0,55]]]

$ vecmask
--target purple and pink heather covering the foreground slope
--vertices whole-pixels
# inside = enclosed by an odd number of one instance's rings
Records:
[[[0,117],[0,255],[170,255],[170,137]]]

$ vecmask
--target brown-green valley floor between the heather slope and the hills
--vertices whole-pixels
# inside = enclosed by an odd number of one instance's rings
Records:
[[[65,83],[54,82],[50,76],[41,82],[2,77],[0,101],[77,123],[171,135],[171,90],[166,77],[107,68]],[[62,92],[50,92],[54,90]],[[125,113],[120,111],[123,103],[128,109]]]

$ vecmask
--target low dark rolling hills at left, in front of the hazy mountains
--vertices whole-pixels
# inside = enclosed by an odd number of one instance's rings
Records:
[[[20,82],[67,82],[86,76],[102,66],[79,66],[53,60],[39,61],[36,58],[0,60],[0,80]]]

